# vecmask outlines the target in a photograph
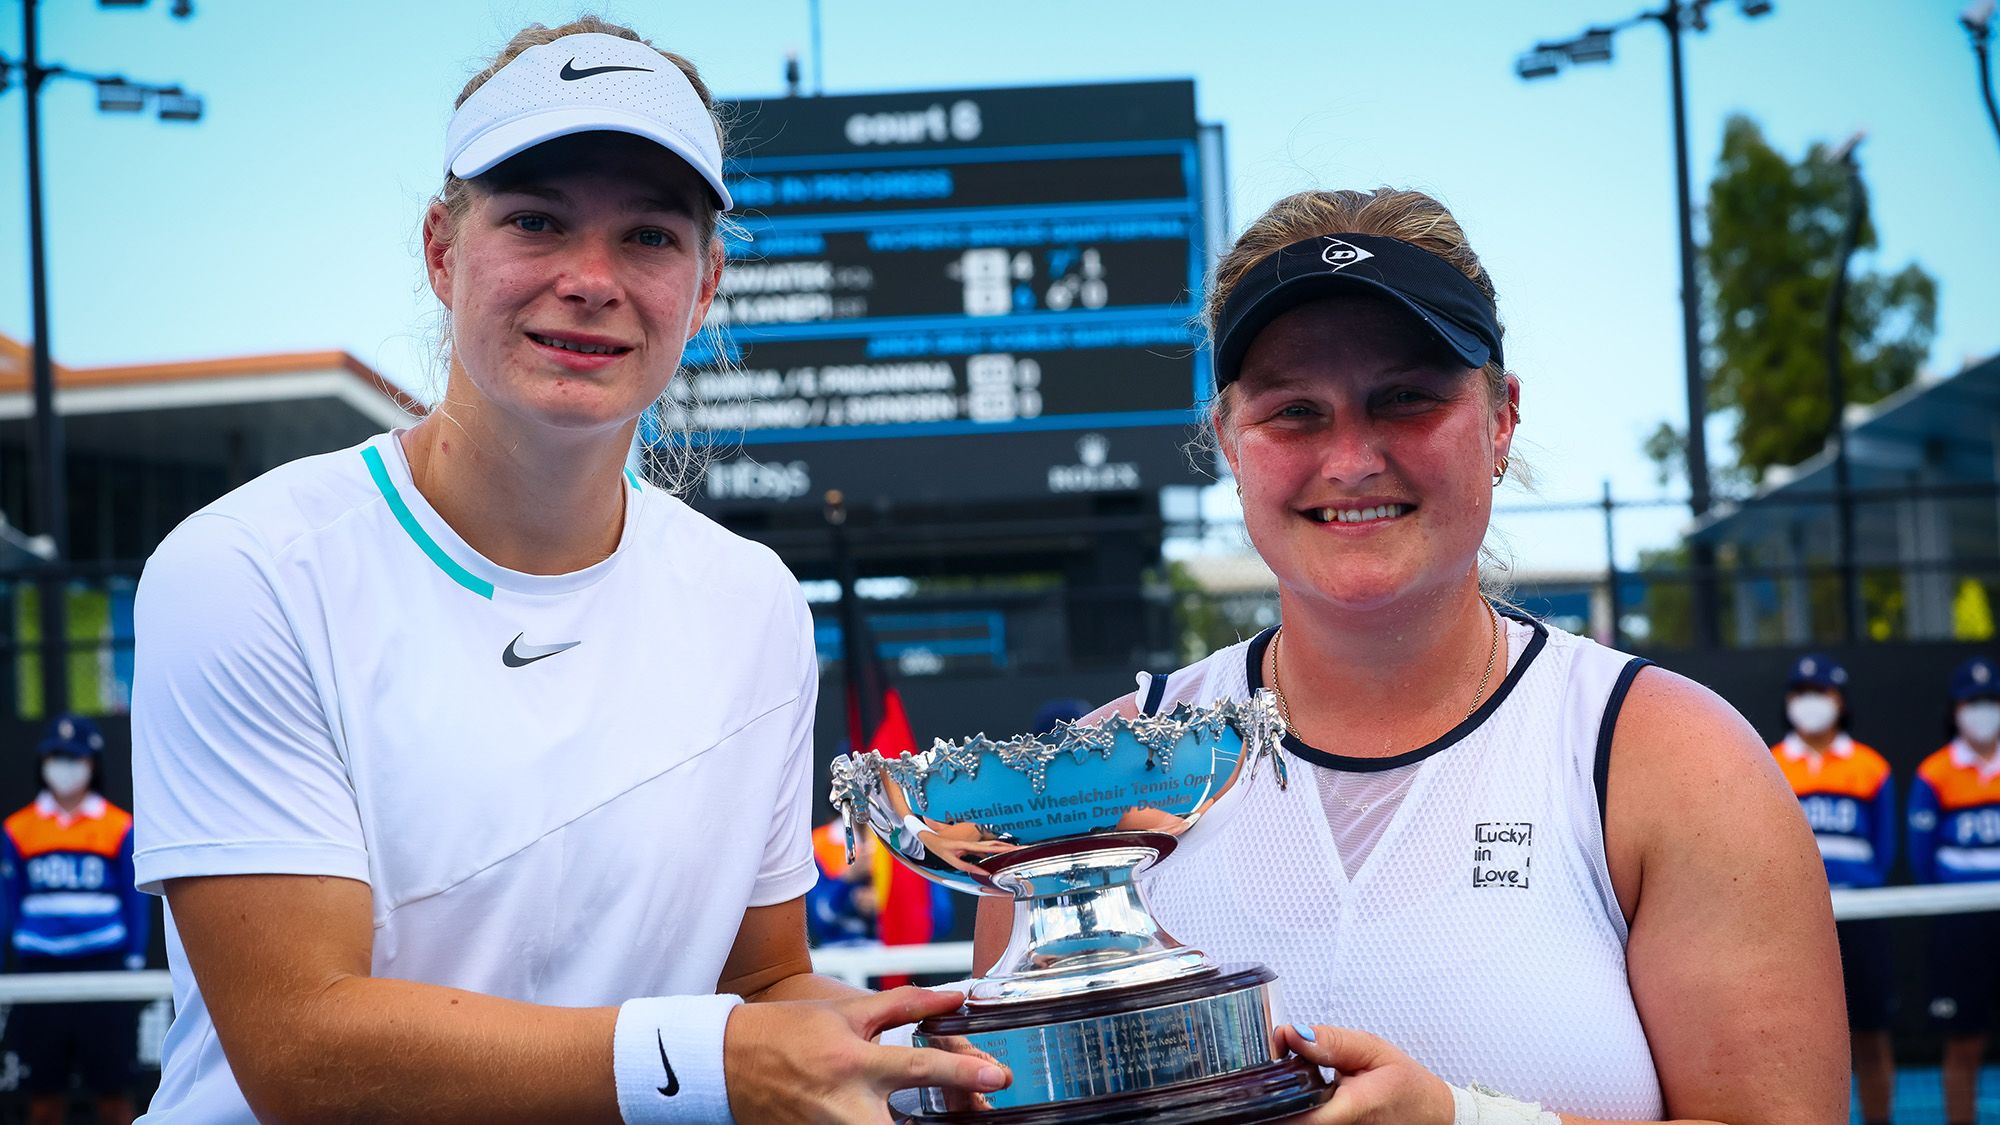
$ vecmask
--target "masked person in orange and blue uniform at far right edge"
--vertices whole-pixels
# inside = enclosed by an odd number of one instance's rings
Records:
[[[2000,879],[2000,665],[1952,673],[1954,739],[1916,767],[1910,869],[1918,883]],[[2000,985],[2000,911],[1940,915],[1930,927],[1930,1017],[1944,1031],[1944,1121],[1972,1125]]]

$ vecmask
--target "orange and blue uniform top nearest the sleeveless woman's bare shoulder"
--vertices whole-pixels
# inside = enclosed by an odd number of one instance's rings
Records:
[[[1874,747],[1834,735],[1826,753],[1798,735],[1770,749],[1812,825],[1834,887],[1880,887],[1896,859],[1896,779]]]

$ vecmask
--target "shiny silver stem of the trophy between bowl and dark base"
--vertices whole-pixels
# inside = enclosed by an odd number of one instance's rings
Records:
[[[1066,847],[1008,863],[994,883],[1014,893],[1014,933],[974,1005],[1038,1001],[1092,989],[1212,973],[1198,949],[1174,941],[1146,907],[1138,875],[1174,849],[1154,833],[1122,843]]]

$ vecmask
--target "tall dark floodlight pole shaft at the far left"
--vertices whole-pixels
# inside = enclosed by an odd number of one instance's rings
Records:
[[[42,717],[70,707],[68,605],[62,567],[70,558],[70,516],[64,502],[62,418],[56,414],[56,370],[48,346],[48,260],[42,240],[42,68],[36,40],[36,0],[20,0],[22,102],[28,114],[28,302],[32,306],[34,426],[32,464],[36,524],[52,546],[42,560],[36,609],[42,627]]]

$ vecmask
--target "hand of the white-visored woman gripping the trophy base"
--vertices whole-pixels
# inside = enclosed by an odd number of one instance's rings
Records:
[[[884,1029],[958,1011],[964,999],[892,989],[842,1001],[740,1005],[722,1041],[730,1113],[774,1125],[888,1125],[888,1095],[896,1089],[1002,1089],[1012,1075],[992,1061],[872,1043]]]

